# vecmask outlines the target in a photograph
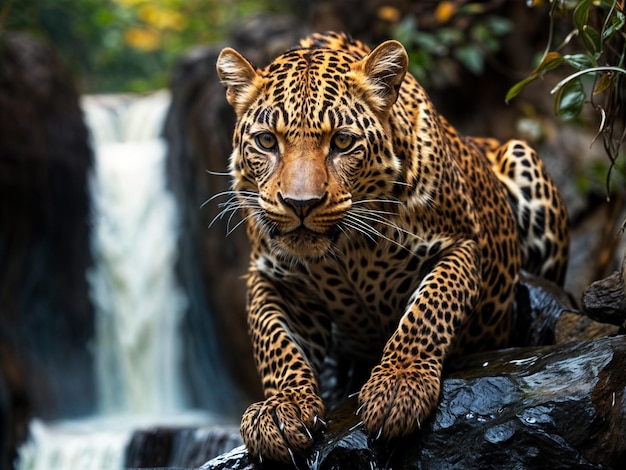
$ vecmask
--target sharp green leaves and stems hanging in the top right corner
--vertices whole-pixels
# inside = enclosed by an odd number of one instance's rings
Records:
[[[506,101],[513,99],[525,86],[542,77],[546,72],[561,66],[574,69],[552,90],[554,111],[564,119],[575,119],[588,102],[600,113],[601,120],[597,135],[602,137],[609,158],[609,167],[606,172],[608,194],[611,171],[616,168],[617,158],[626,136],[625,123],[621,119],[626,103],[620,94],[620,86],[626,78],[624,1],[551,0],[550,4],[550,39],[543,57],[528,77],[511,87]],[[553,48],[556,17],[567,19],[572,30],[559,46]],[[579,38],[580,41],[574,43],[575,38]],[[561,53],[565,49],[572,48],[576,50],[576,53]],[[593,79],[588,88],[589,91],[585,88],[587,79]],[[603,102],[598,103],[601,98],[604,98]]]

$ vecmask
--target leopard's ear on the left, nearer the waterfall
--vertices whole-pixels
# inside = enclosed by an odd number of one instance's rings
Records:
[[[217,75],[226,87],[226,99],[241,116],[258,91],[259,78],[252,64],[235,49],[227,47],[217,58]]]

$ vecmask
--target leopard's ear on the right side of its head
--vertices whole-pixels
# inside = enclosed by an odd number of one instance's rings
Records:
[[[362,61],[373,105],[387,112],[398,99],[398,91],[409,66],[409,57],[398,41],[385,41]]]

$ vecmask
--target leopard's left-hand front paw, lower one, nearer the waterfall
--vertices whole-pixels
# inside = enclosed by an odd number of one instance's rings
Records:
[[[286,389],[248,407],[241,419],[241,437],[259,460],[288,463],[311,448],[323,412],[322,400],[312,388]]]

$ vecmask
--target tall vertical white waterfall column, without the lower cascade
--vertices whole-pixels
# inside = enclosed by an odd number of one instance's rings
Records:
[[[85,101],[96,157],[88,281],[96,311],[98,402],[104,413],[180,411],[179,328],[186,299],[173,272],[177,207],[166,189],[167,147],[159,139],[169,94],[113,108],[113,119],[103,120],[95,104]]]

